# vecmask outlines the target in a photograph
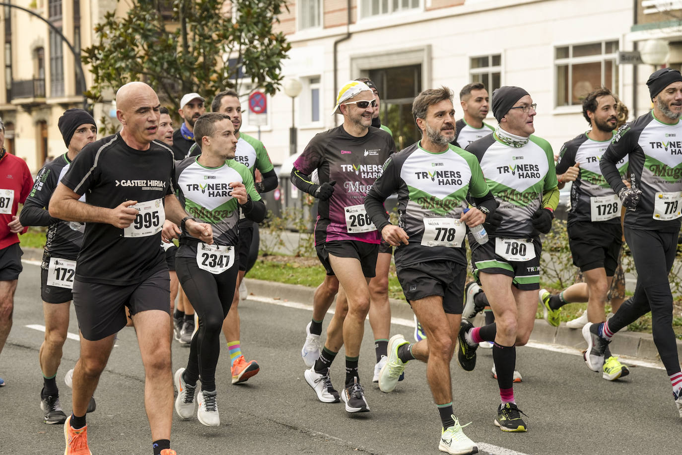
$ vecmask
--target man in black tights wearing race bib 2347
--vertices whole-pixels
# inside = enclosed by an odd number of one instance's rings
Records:
[[[237,224],[242,213],[249,220],[263,221],[265,204],[254,189],[249,168],[234,160],[238,139],[230,116],[202,115],[194,132],[201,154],[182,160],[175,168],[175,178],[180,203],[198,220],[213,226],[214,243],[203,244],[186,233],[180,237],[177,270],[183,289],[194,302],[199,325],[187,368],[175,372],[175,411],[183,420],[192,417],[196,381],[201,377],[196,416],[206,426],[220,426],[216,365],[220,329],[234,304],[239,270]]]

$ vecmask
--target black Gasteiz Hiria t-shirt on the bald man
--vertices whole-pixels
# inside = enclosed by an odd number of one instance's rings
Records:
[[[147,150],[129,147],[120,134],[86,145],[61,182],[90,205],[113,209],[137,201],[138,219],[127,229],[86,223],[76,278],[125,285],[146,280],[166,267],[161,244],[164,197],[174,192],[173,151],[152,142]],[[157,231],[158,230],[158,231]]]

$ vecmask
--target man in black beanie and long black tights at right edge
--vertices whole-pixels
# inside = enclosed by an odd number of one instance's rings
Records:
[[[585,363],[602,369],[608,343],[620,329],[651,311],[651,332],[672,383],[682,417],[682,372],[672,330],[672,293],[668,274],[677,252],[682,217],[682,74],[663,68],[647,80],[653,110],[622,126],[599,161],[604,178],[628,211],[623,222],[637,269],[635,293],[604,323],[587,323]],[[619,163],[628,157],[627,188]]]

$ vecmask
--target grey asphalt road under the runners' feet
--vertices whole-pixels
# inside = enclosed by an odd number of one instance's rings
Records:
[[[303,302],[308,304],[309,302]],[[216,375],[222,425],[209,428],[174,416],[172,445],[192,454],[438,454],[438,413],[426,385],[426,366],[406,368],[406,380],[383,394],[371,377],[374,349],[369,324],[360,368],[370,413],[348,415],[342,404],[318,402],[303,379],[300,357],[310,311],[291,302],[241,302],[241,345],[261,372],[243,385],[230,381],[226,346]],[[42,376],[38,349],[43,334],[26,327],[43,323],[39,267],[25,264],[16,292],[14,327],[0,357],[0,454],[61,454],[62,427],[42,422],[39,392]],[[394,325],[392,333],[410,337],[411,328]],[[72,310],[70,333],[77,334]],[[173,368],[186,363],[189,349],[173,345]],[[451,366],[455,413],[473,422],[466,435],[483,454],[679,454],[682,419],[670,394],[665,371],[634,367],[623,381],[610,383],[588,370],[578,352],[518,349],[518,405],[528,417],[526,433],[505,433],[493,425],[499,402],[490,377],[492,355],[479,349],[478,366],[464,372]],[[78,342],[68,339],[57,375],[61,402],[70,411],[70,389],[63,376],[78,358]],[[342,386],[342,353],[332,367],[332,381]],[[119,334],[88,415],[93,454],[151,454],[143,406],[144,372],[131,328]],[[516,452],[514,452],[516,451]]]

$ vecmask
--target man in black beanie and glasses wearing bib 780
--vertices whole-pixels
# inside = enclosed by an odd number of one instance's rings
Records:
[[[488,295],[495,323],[473,327],[462,319],[458,362],[464,370],[473,370],[479,342],[494,341],[492,359],[501,397],[494,424],[503,431],[528,430],[514,400],[516,346],[526,344],[533,330],[542,252],[539,233],[552,228],[559,202],[552,147],[533,136],[535,106],[520,87],[496,89],[492,111],[499,125],[494,134],[467,147],[481,163],[503,220],[488,232],[488,243],[480,245],[469,237],[474,276]]]

